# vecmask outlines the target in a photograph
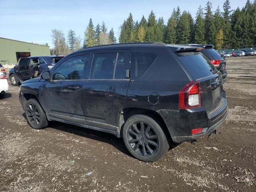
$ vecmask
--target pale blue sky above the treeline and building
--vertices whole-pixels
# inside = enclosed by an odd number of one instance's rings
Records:
[[[142,15],[148,18],[153,10],[156,17],[163,16],[166,22],[173,8],[189,10],[192,16],[200,5],[208,0],[0,0],[0,37],[34,43],[48,43],[52,46],[51,30],[75,30],[82,39],[84,30],[92,18],[94,26],[104,20],[108,31],[114,28],[119,36],[119,27],[132,12],[134,20]],[[212,0],[213,10],[222,9],[225,0]],[[230,0],[231,8],[242,8],[246,0]]]

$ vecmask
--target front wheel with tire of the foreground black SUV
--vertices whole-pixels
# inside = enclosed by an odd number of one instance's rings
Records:
[[[25,114],[28,124],[34,129],[43,129],[48,126],[46,114],[40,104],[35,99],[27,101]]]

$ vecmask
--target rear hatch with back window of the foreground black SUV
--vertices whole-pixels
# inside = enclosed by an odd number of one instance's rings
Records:
[[[222,103],[223,80],[212,63],[200,52],[176,52],[180,60],[190,71],[194,80],[200,82],[202,107],[207,114]]]

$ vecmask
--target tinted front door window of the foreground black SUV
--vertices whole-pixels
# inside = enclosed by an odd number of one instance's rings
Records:
[[[87,55],[79,55],[64,61],[54,70],[52,80],[80,80],[85,79]]]

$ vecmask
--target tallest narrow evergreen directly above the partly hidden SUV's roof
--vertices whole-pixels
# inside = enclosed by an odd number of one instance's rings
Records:
[[[205,40],[208,44],[212,44],[212,3],[208,1],[206,7],[204,8],[205,12]]]

